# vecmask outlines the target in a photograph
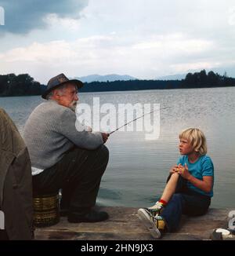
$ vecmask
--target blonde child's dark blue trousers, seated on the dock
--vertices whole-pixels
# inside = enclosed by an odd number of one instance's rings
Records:
[[[161,213],[169,232],[179,229],[182,214],[200,216],[206,214],[211,198],[187,188],[186,180],[179,176],[175,194]]]

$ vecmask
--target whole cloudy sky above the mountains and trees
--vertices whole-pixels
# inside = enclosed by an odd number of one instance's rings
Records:
[[[235,76],[234,0],[0,0],[0,74]]]

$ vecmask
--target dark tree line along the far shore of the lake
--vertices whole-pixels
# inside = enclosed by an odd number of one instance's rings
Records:
[[[182,80],[129,80],[114,82],[85,82],[80,92],[103,92],[124,90],[164,90],[235,86],[235,79],[205,70],[188,73]],[[41,95],[46,86],[34,81],[28,74],[0,75],[0,97]]]

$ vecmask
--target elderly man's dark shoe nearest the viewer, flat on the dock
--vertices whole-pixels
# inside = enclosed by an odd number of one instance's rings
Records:
[[[109,215],[105,211],[90,210],[88,214],[82,215],[77,212],[71,212],[68,214],[67,220],[71,223],[79,223],[105,221],[107,218],[109,218]]]

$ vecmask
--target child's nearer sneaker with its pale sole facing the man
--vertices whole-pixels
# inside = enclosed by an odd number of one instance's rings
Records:
[[[161,238],[161,234],[164,232],[165,222],[160,215],[153,216],[149,210],[140,208],[138,210],[138,217],[143,221],[143,225],[149,230],[151,236]]]

